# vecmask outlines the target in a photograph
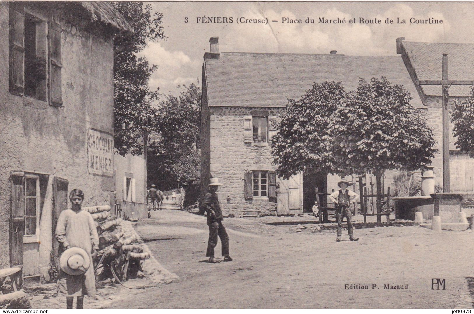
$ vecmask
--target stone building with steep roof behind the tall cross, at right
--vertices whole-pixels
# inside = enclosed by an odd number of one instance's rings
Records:
[[[474,44],[445,44],[405,41],[397,39],[397,54],[400,54],[408,73],[414,83],[420,80],[442,79],[442,56],[448,56],[448,77],[450,80],[474,80]],[[417,92],[423,102],[428,124],[434,130],[439,153],[432,161],[435,166],[435,178],[439,185],[443,185],[443,158],[442,158],[442,87],[440,85],[417,85]],[[462,100],[471,94],[471,87],[467,85],[451,86],[449,88],[448,107],[456,100]],[[413,95],[413,93],[412,93]],[[456,139],[452,133],[452,123],[449,127],[450,150],[450,188],[451,192],[473,194],[474,191],[474,159],[461,154],[455,146]]]

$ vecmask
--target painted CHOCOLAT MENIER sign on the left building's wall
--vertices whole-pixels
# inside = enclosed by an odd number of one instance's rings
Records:
[[[113,175],[114,139],[112,135],[89,129],[87,133],[87,168],[89,173]]]

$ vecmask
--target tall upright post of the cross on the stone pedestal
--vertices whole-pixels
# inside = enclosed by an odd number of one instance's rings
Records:
[[[447,54],[443,54],[443,81],[447,81]],[[451,192],[449,185],[449,84],[443,84],[443,192]]]

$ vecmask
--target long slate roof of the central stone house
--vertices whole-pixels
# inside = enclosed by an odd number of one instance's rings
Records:
[[[385,76],[403,85],[414,107],[422,107],[401,55],[371,57],[331,54],[265,54],[222,52],[205,58],[210,106],[284,107],[299,99],[313,82],[342,82],[356,89],[359,78]]]

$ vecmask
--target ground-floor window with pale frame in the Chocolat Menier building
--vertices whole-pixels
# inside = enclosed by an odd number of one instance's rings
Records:
[[[26,175],[25,178],[25,236],[36,240],[39,230],[39,177]],[[33,236],[33,237],[32,237]]]

